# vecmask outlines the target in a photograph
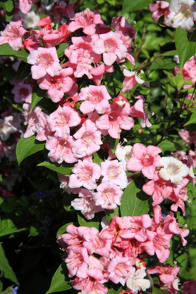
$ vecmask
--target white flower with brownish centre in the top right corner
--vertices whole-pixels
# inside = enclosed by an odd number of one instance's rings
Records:
[[[171,0],[170,13],[165,16],[165,25],[174,28],[181,26],[188,32],[193,31],[196,20],[196,4],[194,0]]]

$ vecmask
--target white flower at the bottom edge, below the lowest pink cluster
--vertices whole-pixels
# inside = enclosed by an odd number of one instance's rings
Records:
[[[151,287],[150,281],[144,279],[146,275],[146,268],[142,267],[141,269],[136,271],[135,268],[133,268],[131,276],[126,281],[126,286],[134,293],[138,293],[138,291],[146,291],[148,288]]]

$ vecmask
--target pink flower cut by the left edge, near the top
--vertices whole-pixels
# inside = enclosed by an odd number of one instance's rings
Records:
[[[23,35],[27,32],[21,21],[10,22],[5,29],[0,32],[0,45],[8,43],[11,49],[18,51],[23,46]]]

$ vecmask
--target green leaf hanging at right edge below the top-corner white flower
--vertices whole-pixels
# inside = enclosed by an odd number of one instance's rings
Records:
[[[187,60],[196,54],[196,30],[189,33],[180,26],[175,31],[175,47],[180,60],[180,73]]]

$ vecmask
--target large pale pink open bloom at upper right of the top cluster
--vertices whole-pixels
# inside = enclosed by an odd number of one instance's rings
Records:
[[[120,62],[126,57],[127,49],[117,34],[113,31],[101,34],[100,39],[94,42],[93,51],[97,54],[103,53],[103,61],[106,65],[112,65],[116,60]]]

